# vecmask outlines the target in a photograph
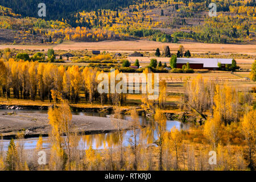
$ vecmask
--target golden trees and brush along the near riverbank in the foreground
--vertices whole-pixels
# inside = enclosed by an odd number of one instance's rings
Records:
[[[26,158],[22,146],[11,140],[6,155],[0,154],[0,169],[7,170],[247,170],[255,169],[256,113],[246,111],[240,122],[225,125],[219,113],[203,126],[179,131],[166,130],[167,119],[155,109],[154,121],[142,127],[137,111],[131,110],[129,145],[123,146],[120,109],[116,107],[113,125],[117,132],[99,135],[77,135],[67,100],[52,90],[54,105],[49,108],[50,150],[47,164],[39,165],[36,155],[43,150],[39,137],[35,156]],[[59,104],[57,104],[59,100]],[[214,100],[215,101],[215,100]],[[155,141],[156,138],[157,140]],[[157,146],[152,146],[152,143]],[[96,146],[92,148],[92,144]],[[103,149],[97,150],[103,146]],[[217,164],[209,164],[209,151],[217,152]]]

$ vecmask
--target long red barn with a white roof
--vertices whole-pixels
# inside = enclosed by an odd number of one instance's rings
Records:
[[[218,63],[221,63],[221,68],[225,68],[226,64],[232,64],[232,59],[177,58],[177,68],[187,63],[192,69],[218,70]]]

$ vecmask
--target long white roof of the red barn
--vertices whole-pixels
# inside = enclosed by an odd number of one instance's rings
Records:
[[[218,68],[218,63],[232,64],[232,59],[177,58],[177,64],[204,64],[204,68]]]

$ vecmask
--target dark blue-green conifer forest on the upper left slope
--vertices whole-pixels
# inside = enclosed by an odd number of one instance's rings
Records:
[[[45,3],[46,19],[62,19],[78,11],[116,9],[129,6],[133,2],[134,0],[0,0],[0,5],[23,16],[38,17],[38,4]]]

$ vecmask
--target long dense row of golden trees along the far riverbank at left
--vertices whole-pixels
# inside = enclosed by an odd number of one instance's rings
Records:
[[[15,61],[6,52],[0,60],[0,96],[18,99],[31,99],[41,101],[52,101],[51,90],[58,90],[63,97],[72,103],[79,103],[81,98],[92,104],[100,102],[102,105],[123,105],[126,104],[127,94],[125,93],[98,93],[97,76],[102,73],[97,68],[64,68],[62,65],[45,64],[29,61]],[[108,57],[108,56],[107,56]],[[8,61],[3,61],[7,59]],[[119,71],[115,70],[115,76]],[[147,75],[148,69],[144,74]],[[110,78],[110,73],[109,73]],[[119,81],[115,81],[115,85]],[[164,106],[166,102],[166,84],[160,84],[163,90],[159,97],[159,104]],[[110,85],[109,85],[110,90]],[[126,92],[128,93],[128,92]]]

